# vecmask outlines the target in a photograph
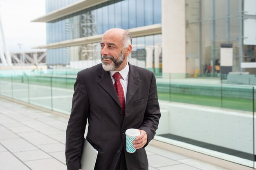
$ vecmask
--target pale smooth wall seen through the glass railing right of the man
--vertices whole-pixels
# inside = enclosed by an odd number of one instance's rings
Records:
[[[157,135],[171,133],[225,148],[253,153],[252,112],[160,102]]]

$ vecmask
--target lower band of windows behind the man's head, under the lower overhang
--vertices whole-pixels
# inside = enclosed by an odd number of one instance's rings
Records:
[[[66,63],[70,68],[88,68],[101,63],[100,42],[71,46],[67,48],[56,48],[48,50],[48,58],[52,65]],[[162,73],[162,35],[148,35],[132,38],[132,52],[128,56],[128,61],[142,68],[147,68],[155,72],[156,75]]]

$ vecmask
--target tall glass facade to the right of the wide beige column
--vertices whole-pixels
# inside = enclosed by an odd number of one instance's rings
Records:
[[[244,1],[186,0],[186,72],[217,72],[220,44],[233,45],[233,72],[248,71],[241,62],[255,62],[255,45],[242,44]],[[249,52],[249,54],[248,54]],[[209,69],[210,68],[210,69]],[[250,72],[255,74],[256,72]]]

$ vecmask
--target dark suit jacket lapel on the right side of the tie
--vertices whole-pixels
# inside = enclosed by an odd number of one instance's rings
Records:
[[[129,64],[129,79],[128,79],[128,87],[126,92],[126,105],[130,100],[132,99],[132,96],[135,94],[137,89],[139,88],[139,85],[141,83],[141,80],[139,79],[139,74],[135,70],[133,65]]]

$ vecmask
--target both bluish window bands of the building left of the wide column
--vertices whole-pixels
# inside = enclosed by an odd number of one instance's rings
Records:
[[[52,2],[47,4],[48,10],[52,10]],[[129,29],[159,23],[161,0],[110,0],[48,22],[47,44],[102,34],[110,28]],[[148,68],[156,74],[162,72],[162,48],[156,48],[161,46],[161,42],[161,35],[133,37],[130,63]],[[47,64],[86,68],[101,62],[99,49],[99,44],[48,49]],[[150,60],[148,64],[146,57]]]

